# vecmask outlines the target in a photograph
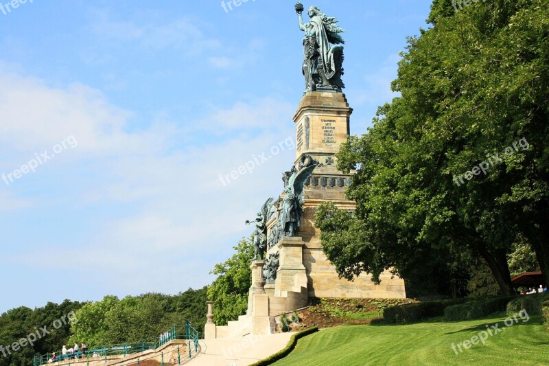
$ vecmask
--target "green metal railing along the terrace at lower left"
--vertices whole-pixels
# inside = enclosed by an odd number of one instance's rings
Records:
[[[185,334],[178,334],[178,330],[182,332],[185,330]],[[129,354],[136,354],[140,352],[145,352],[147,350],[156,350],[157,348],[165,345],[166,343],[173,341],[175,339],[185,339],[187,340],[187,349],[189,351],[189,358],[192,357],[192,354],[198,353],[198,330],[196,330],[189,321],[186,320],[184,326],[173,325],[170,330],[164,332],[159,336],[158,341],[141,341],[135,343],[120,343],[116,345],[97,345],[95,347],[88,348],[86,353],[75,352],[73,354],[61,354],[61,351],[42,355],[34,356],[34,366],[45,365],[49,362],[59,362],[59,361],[69,361],[68,365],[71,364],[71,361],[76,359],[82,361],[85,358],[88,363],[90,361],[97,361],[104,359],[105,362],[108,361],[109,357],[112,356],[127,356]],[[162,354],[163,356],[163,354]],[[178,363],[180,363],[180,350],[177,349]],[[156,356],[155,356],[156,357]],[[50,361],[51,360],[51,361]],[[141,360],[145,361],[145,360]],[[139,359],[138,362],[139,364]]]

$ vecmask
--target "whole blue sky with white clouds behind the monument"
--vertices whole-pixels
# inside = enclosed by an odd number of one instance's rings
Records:
[[[0,312],[209,284],[294,159],[295,1],[30,1],[0,10]],[[304,5],[364,133],[430,1]]]

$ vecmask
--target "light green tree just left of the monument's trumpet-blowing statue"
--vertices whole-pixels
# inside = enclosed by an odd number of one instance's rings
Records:
[[[215,264],[211,271],[218,277],[208,286],[208,299],[215,301],[213,320],[225,325],[246,313],[251,286],[250,264],[253,260],[253,240],[242,238],[235,254],[223,263]]]

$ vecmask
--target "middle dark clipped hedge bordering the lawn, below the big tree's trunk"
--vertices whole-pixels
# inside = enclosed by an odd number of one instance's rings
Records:
[[[444,317],[449,321],[480,319],[495,312],[505,311],[507,304],[513,299],[514,296],[500,296],[467,301],[465,304],[445,308]]]

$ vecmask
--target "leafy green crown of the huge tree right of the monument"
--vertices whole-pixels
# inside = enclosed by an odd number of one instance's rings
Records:
[[[459,12],[434,1],[428,21],[401,54],[392,84],[401,96],[340,148],[338,168],[358,168],[347,192],[357,209],[320,207],[325,252],[343,277],[368,271],[374,280],[425,253],[449,267],[471,253],[509,294],[507,255],[524,237],[547,281],[548,1]]]

